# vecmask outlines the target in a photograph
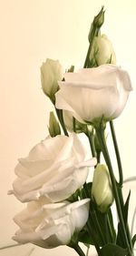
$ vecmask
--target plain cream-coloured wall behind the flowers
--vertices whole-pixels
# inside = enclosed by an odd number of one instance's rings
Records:
[[[0,246],[11,244],[13,222],[22,204],[7,196],[17,159],[47,135],[49,100],[40,83],[47,58],[64,68],[83,67],[92,18],[104,5],[102,33],[112,40],[117,62],[131,74],[133,92],[115,120],[124,177],[135,175],[136,148],[136,1],[0,0]],[[0,256],[28,255],[33,246],[0,251]],[[69,248],[34,249],[31,255],[76,255]]]

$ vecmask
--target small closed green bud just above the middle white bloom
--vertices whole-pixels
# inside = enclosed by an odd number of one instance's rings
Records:
[[[60,125],[58,123],[58,121],[56,120],[53,111],[50,112],[50,118],[49,118],[49,133],[51,137],[55,137],[57,135],[61,134],[61,128]]]

